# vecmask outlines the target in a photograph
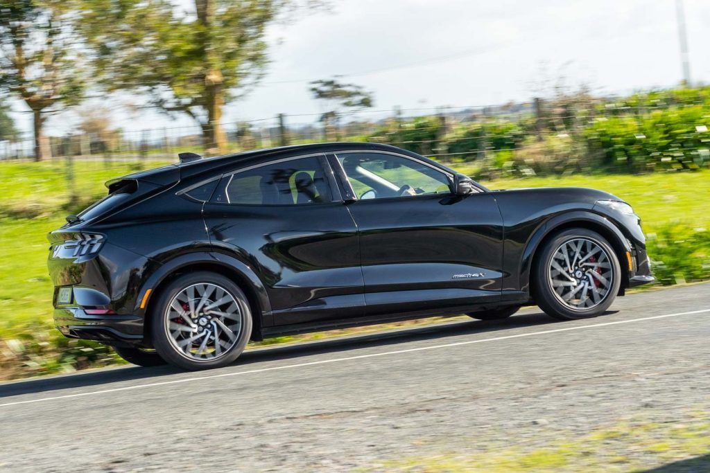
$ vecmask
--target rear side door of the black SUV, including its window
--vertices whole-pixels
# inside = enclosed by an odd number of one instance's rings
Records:
[[[323,155],[224,174],[204,220],[217,257],[238,258],[266,286],[273,325],[363,313],[357,228]]]

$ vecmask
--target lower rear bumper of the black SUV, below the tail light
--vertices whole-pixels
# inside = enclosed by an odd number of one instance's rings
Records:
[[[143,340],[143,318],[133,315],[87,314],[81,308],[65,307],[54,311],[54,321],[69,338],[96,340],[107,345],[135,345]]]

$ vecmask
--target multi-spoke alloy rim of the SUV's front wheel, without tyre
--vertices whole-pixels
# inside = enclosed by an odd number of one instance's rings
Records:
[[[559,245],[548,274],[557,299],[575,311],[599,306],[613,287],[611,258],[589,238],[572,238]]]

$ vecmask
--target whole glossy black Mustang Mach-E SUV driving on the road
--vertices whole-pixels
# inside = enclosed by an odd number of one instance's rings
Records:
[[[598,316],[653,279],[638,216],[605,192],[489,191],[371,143],[196,158],[107,182],[49,234],[67,337],[202,369],[275,335],[525,304]]]

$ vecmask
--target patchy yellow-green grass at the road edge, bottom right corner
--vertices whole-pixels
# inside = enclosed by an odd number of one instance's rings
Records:
[[[618,421],[586,435],[552,430],[547,426],[535,438],[515,445],[471,439],[457,452],[429,445],[429,455],[383,460],[359,471],[388,472],[643,472],[710,471],[710,412],[693,411],[677,422],[648,418]],[[552,440],[550,440],[552,439]],[[565,440],[559,440],[565,439]],[[466,449],[466,450],[464,450]],[[475,450],[474,450],[475,449]],[[655,469],[657,468],[657,470]]]

